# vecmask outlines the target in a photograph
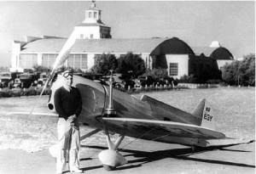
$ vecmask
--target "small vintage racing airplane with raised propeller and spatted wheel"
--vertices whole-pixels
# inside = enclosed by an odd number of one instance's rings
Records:
[[[73,35],[67,39],[55,60],[51,76],[44,85],[44,89],[51,85],[47,105],[52,112],[55,112],[54,93],[61,87],[62,78],[56,70],[64,65],[75,40]],[[111,74],[113,75],[113,71]],[[55,81],[53,76],[57,76]],[[106,170],[113,170],[127,163],[125,157],[117,151],[125,136],[191,147],[245,143],[242,140],[227,138],[224,133],[214,130],[215,115],[206,99],[202,99],[195,109],[188,113],[147,95],[137,98],[120,92],[114,89],[112,84],[113,76],[109,86],[82,76],[73,76],[73,86],[79,88],[83,102],[79,121],[96,128],[82,136],[81,140],[102,130],[106,132],[108,149],[99,154],[99,160]],[[115,143],[110,140],[110,132],[119,134]],[[232,142],[222,141],[227,139]]]

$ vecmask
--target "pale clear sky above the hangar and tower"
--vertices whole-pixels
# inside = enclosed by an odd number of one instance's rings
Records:
[[[0,0],[0,67],[10,66],[14,40],[70,36],[90,4]],[[255,53],[254,1],[96,1],[96,7],[113,38],[178,37],[192,48],[218,41],[236,58]]]

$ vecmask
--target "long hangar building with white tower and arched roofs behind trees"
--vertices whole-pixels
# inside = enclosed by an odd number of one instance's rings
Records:
[[[233,60],[226,48],[218,44],[214,48],[190,48],[177,37],[172,38],[112,38],[111,28],[102,23],[102,11],[93,1],[85,10],[82,24],[74,26],[72,35],[76,41],[66,66],[89,71],[95,58],[102,53],[113,53],[117,58],[128,52],[142,57],[148,69],[166,68],[168,75],[200,74],[203,70],[215,70]],[[26,36],[25,42],[14,41],[11,71],[32,69],[34,65],[52,68],[67,38],[56,36]]]

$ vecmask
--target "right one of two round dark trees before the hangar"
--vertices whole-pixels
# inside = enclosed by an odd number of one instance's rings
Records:
[[[131,52],[126,53],[119,60],[119,65],[116,72],[123,74],[127,78],[133,75],[133,78],[143,75],[146,70],[144,60],[137,54]]]

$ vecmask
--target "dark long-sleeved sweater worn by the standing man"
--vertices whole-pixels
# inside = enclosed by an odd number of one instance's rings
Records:
[[[64,87],[60,87],[55,91],[55,110],[60,118],[67,120],[68,116],[79,116],[82,109],[82,99],[79,89],[71,87],[70,92]]]

